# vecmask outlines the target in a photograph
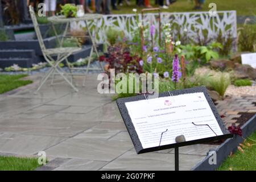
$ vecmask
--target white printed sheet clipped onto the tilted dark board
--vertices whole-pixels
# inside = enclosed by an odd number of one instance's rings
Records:
[[[223,135],[203,92],[125,103],[143,148]],[[207,126],[208,125],[208,126]]]

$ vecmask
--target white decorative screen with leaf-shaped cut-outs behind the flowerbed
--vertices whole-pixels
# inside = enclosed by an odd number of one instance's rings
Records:
[[[138,28],[138,22],[142,22],[142,15],[124,14],[124,15],[104,15],[100,20],[88,22],[90,30],[96,38],[97,43],[107,42],[105,32],[110,27],[123,32],[127,39],[132,39],[132,32]],[[156,30],[159,27],[158,14],[144,14],[143,25],[154,24]],[[232,35],[237,38],[236,11],[217,11],[216,16],[209,16],[208,12],[193,13],[162,13],[161,24],[170,23],[171,34],[174,40],[177,35],[187,36],[190,41],[196,43],[203,39],[213,39],[221,33],[222,36]],[[80,26],[84,23],[80,22]],[[163,33],[162,31],[160,31]],[[159,34],[154,39],[158,39]],[[148,37],[148,39],[150,39]],[[205,40],[207,42],[207,40]]]

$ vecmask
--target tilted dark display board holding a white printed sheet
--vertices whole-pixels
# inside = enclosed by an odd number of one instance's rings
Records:
[[[137,154],[233,137],[203,86],[146,98],[117,100]],[[184,140],[177,142],[181,135]]]

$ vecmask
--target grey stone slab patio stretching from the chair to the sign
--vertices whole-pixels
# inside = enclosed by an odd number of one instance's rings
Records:
[[[45,151],[49,163],[40,170],[174,170],[174,150],[137,155],[112,96],[97,93],[97,75],[90,75],[79,93],[61,78],[33,94],[31,85],[0,95],[0,155],[36,156]],[[180,169],[189,170],[210,148],[180,148]]]

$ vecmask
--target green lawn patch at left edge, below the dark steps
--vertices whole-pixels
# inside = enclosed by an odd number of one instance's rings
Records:
[[[0,94],[31,84],[31,80],[19,80],[27,75],[0,75]]]

